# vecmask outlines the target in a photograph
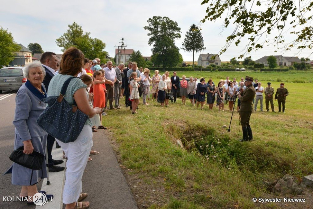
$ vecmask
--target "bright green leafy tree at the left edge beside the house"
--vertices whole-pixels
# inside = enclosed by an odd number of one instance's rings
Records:
[[[0,66],[8,65],[9,62],[13,61],[14,52],[20,49],[20,45],[15,43],[11,32],[0,26]]]

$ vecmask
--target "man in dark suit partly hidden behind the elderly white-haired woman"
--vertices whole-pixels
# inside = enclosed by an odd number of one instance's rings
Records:
[[[53,52],[45,52],[41,55],[40,62],[46,71],[46,76],[44,77],[44,86],[46,87],[46,91],[48,92],[49,83],[54,76],[55,69],[57,69],[58,65],[58,58],[55,53]],[[52,159],[52,147],[54,144],[54,137],[48,134],[47,138],[47,150],[48,150],[48,164],[49,164],[49,172],[58,172],[62,171],[65,168],[56,166],[63,163],[63,160],[54,160]]]

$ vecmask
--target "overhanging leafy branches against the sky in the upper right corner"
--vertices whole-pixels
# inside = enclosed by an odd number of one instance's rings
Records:
[[[223,18],[223,26],[234,24],[234,30],[226,39],[225,52],[228,46],[235,40],[236,46],[248,35],[246,50],[258,50],[263,44],[271,44],[277,49],[289,50],[293,47],[298,49],[313,48],[313,26],[312,21],[313,1],[304,0],[203,0],[208,3],[206,20],[215,21]],[[225,18],[226,16],[226,18]],[[288,27],[285,29],[285,27]],[[273,42],[269,34],[277,31]],[[284,36],[288,33],[294,34],[295,39],[285,43]],[[267,37],[269,37],[267,39]],[[276,50],[275,50],[276,52]],[[240,55],[242,58],[244,55]]]

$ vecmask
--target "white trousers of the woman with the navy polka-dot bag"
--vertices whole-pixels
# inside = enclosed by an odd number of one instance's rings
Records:
[[[85,125],[74,142],[64,144],[56,139],[67,156],[63,203],[77,202],[82,192],[81,178],[83,177],[92,143],[92,130]]]

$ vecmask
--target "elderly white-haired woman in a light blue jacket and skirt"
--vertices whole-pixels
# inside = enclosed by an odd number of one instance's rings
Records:
[[[13,124],[15,126],[14,150],[24,146],[23,153],[31,154],[33,151],[45,154],[47,132],[42,129],[37,119],[46,108],[40,100],[47,97],[47,92],[42,84],[46,72],[40,62],[32,62],[24,68],[27,78],[25,85],[21,86],[15,98],[16,107]],[[21,185],[20,197],[33,197],[37,190],[37,183],[41,178],[47,177],[46,161],[42,163],[41,170],[33,170],[13,163],[12,184]],[[53,198],[53,195],[47,195]],[[28,200],[31,200],[28,199]],[[28,205],[34,204],[32,201]]]

